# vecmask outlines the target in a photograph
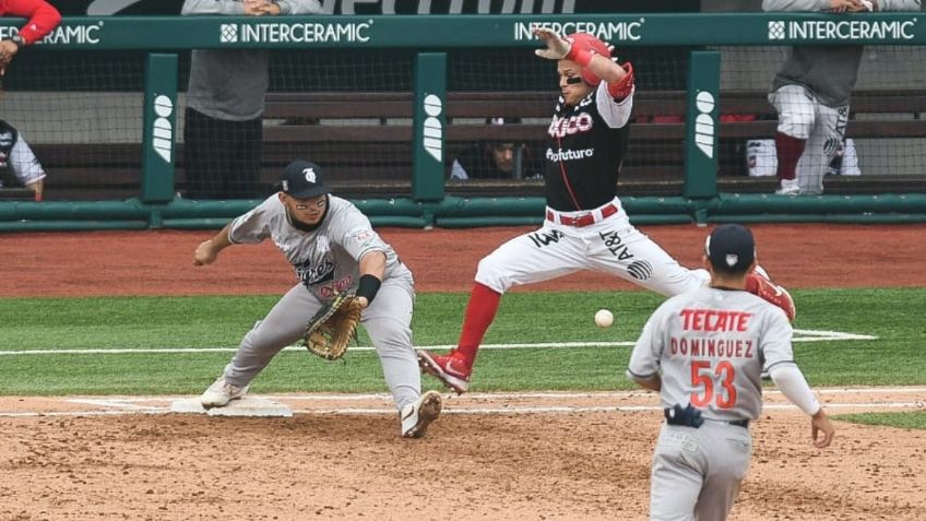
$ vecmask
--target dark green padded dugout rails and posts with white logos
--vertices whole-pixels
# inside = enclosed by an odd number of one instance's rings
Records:
[[[22,21],[2,19],[0,36]],[[834,17],[821,14],[634,14],[288,16],[254,19],[68,17],[35,49],[149,52],[145,69],[143,171],[138,199],[96,203],[0,202],[0,229],[211,227],[256,203],[175,201],[177,55],[190,48],[415,48],[414,151],[408,200],[360,201],[378,225],[482,226],[542,220],[537,198],[462,200],[448,197],[442,107],[447,104],[447,56],[460,48],[532,48],[535,25],[562,33],[585,31],[621,47],[633,46],[912,46],[926,42],[918,13]],[[820,196],[800,200],[719,193],[716,183],[720,55],[692,51],[688,79],[684,198],[628,198],[638,223],[715,221],[926,222],[926,194]]]

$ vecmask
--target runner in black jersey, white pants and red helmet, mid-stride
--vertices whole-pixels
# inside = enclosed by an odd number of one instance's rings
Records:
[[[458,393],[466,392],[473,363],[501,295],[519,284],[548,281],[580,270],[613,274],[662,295],[705,285],[704,270],[689,270],[630,224],[617,197],[617,177],[633,107],[633,67],[612,59],[610,48],[587,33],[566,38],[534,28],[546,44],[537,56],[557,63],[560,96],[545,153],[546,220],[479,261],[456,347],[448,355],[418,352],[425,372]],[[750,289],[794,318],[794,303],[763,273],[750,273]]]

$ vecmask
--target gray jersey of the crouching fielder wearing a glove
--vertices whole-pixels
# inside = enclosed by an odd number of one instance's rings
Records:
[[[383,279],[407,271],[357,206],[334,196],[329,196],[328,204],[320,226],[302,232],[289,223],[286,206],[274,193],[233,221],[228,238],[234,244],[258,244],[272,238],[293,264],[296,276],[322,300],[331,299],[335,292],[357,289],[359,259],[368,251],[385,253]]]

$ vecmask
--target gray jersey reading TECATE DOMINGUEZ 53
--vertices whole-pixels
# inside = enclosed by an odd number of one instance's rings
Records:
[[[756,419],[763,367],[794,365],[792,333],[784,311],[756,295],[702,287],[656,309],[628,372],[642,378],[661,372],[664,407],[691,403],[708,418]]]

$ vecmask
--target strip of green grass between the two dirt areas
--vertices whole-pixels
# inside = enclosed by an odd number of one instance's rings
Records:
[[[4,324],[0,394],[199,393],[276,299],[275,295],[0,299]],[[795,292],[795,299],[797,330],[877,338],[796,342],[796,357],[811,386],[926,384],[922,320],[926,289],[809,289]],[[485,343],[628,343],[661,301],[646,292],[513,293],[502,300]],[[416,346],[453,344],[465,303],[465,294],[419,295],[413,324]],[[598,308],[615,312],[614,327],[593,324]],[[370,345],[364,332],[359,345]],[[76,353],[80,350],[95,352]],[[34,351],[55,353],[16,354]],[[484,348],[472,390],[632,389],[624,376],[630,351],[628,345]],[[430,378],[425,387],[439,388]],[[385,386],[372,351],[351,351],[335,363],[285,351],[254,380],[252,390],[383,392]],[[923,416],[903,422],[926,424]],[[867,421],[871,417],[865,415]]]

